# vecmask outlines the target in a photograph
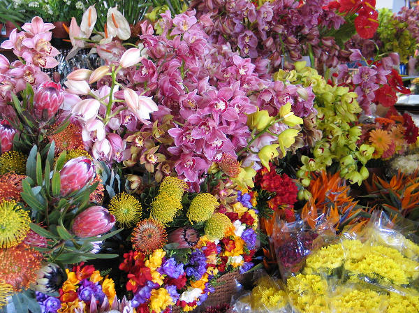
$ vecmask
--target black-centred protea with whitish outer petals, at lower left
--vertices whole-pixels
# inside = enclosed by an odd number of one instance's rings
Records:
[[[38,277],[32,289],[43,293],[52,293],[58,291],[64,282],[64,272],[55,264],[50,263],[38,272]]]

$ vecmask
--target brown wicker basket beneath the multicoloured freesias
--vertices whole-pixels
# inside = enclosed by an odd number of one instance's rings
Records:
[[[205,310],[206,307],[213,307],[223,303],[230,303],[231,297],[234,296],[237,292],[237,282],[244,284],[248,279],[250,279],[249,275],[240,274],[238,270],[222,275],[219,277],[219,279],[216,279],[217,286],[215,291],[210,293],[207,300],[203,304],[196,307],[196,309],[192,312],[196,313]],[[182,312],[182,308],[173,307],[172,312],[180,313]]]

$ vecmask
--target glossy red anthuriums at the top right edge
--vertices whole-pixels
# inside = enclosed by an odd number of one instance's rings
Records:
[[[378,28],[378,12],[375,0],[340,0],[329,4],[330,8],[339,8],[340,13],[355,17],[355,29],[361,38],[369,39],[374,36]]]

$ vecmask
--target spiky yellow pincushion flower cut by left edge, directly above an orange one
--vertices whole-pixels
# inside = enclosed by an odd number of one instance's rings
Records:
[[[0,201],[0,248],[15,247],[29,232],[29,213],[15,201]]]

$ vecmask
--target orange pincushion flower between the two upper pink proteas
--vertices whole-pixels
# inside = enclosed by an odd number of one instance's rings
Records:
[[[54,125],[57,128],[59,125]],[[48,136],[50,142],[55,142],[55,152],[61,153],[64,150],[83,149],[82,129],[75,126],[75,124],[68,124],[68,126],[59,133],[54,133]]]

